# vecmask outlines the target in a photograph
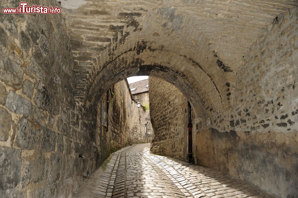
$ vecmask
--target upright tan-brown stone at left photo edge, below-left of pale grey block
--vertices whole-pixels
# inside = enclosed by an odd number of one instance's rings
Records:
[[[7,141],[11,126],[11,115],[0,107],[0,141]]]

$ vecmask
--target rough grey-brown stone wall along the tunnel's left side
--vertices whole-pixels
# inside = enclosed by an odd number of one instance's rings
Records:
[[[1,6],[16,6],[8,2]],[[0,197],[71,196],[96,166],[92,122],[73,100],[74,62],[63,18],[0,19]]]

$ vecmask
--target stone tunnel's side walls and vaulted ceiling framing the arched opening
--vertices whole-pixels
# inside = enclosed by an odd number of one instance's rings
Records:
[[[98,113],[117,82],[115,116],[139,111],[120,82],[135,75],[190,101],[196,163],[298,196],[296,0],[35,3],[62,14],[0,13],[0,197],[71,197],[128,144],[114,119],[100,156]]]

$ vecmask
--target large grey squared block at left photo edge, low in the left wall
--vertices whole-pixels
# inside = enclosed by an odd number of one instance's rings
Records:
[[[0,190],[14,188],[21,178],[21,150],[0,146]]]

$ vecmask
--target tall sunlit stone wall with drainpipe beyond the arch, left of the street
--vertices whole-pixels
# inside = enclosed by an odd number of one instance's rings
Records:
[[[114,90],[114,91],[113,91]],[[107,158],[129,144],[145,143],[145,111],[132,101],[129,86],[122,80],[103,96],[103,156]],[[107,115],[107,94],[108,115]],[[113,96],[113,97],[112,97]],[[100,134],[100,102],[97,104],[97,134]],[[108,120],[107,120],[108,119]],[[100,150],[100,136],[95,142]]]

